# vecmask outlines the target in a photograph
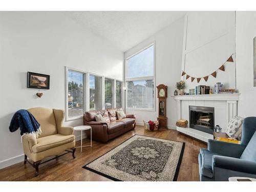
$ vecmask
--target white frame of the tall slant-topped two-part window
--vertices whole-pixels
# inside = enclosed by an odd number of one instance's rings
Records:
[[[127,60],[130,59],[131,57],[139,54],[140,52],[146,50],[147,48],[154,46],[154,76],[143,76],[143,77],[131,77],[127,78]],[[127,89],[127,81],[137,81],[137,80],[153,80],[154,81],[154,98],[153,98],[153,104],[154,107],[153,109],[146,109],[146,108],[128,108],[127,107],[127,90],[125,91],[125,109],[126,110],[134,110],[134,111],[156,111],[156,46],[155,46],[155,41],[149,44],[148,46],[144,47],[143,49],[137,51],[136,53],[130,55],[129,57],[125,58],[125,66],[124,66],[124,82],[125,82],[125,87]],[[123,105],[123,103],[122,103]]]

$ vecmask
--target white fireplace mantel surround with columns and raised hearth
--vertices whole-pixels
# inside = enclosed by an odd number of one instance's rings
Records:
[[[238,114],[239,93],[234,94],[211,94],[211,95],[178,95],[172,96],[177,101],[178,118],[188,120],[189,105],[212,106],[215,108],[215,125],[221,125],[223,131],[227,123]],[[207,142],[212,138],[211,134],[190,128],[177,127],[177,131]]]

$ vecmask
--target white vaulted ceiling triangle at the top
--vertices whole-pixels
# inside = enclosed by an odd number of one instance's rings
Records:
[[[69,11],[65,15],[125,52],[184,16],[184,11]]]

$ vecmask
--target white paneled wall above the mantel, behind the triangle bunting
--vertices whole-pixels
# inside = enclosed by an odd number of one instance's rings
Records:
[[[198,85],[214,88],[216,82],[222,82],[224,89],[236,89],[234,11],[192,11],[184,21],[182,71],[193,77],[208,76],[191,82],[186,75],[185,91]],[[233,54],[233,55],[232,55]],[[234,62],[227,62],[225,72],[218,70],[217,77],[210,74],[219,69],[232,55]],[[181,73],[181,72],[180,72]]]

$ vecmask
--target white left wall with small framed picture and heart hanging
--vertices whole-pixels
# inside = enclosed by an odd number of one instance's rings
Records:
[[[0,168],[23,159],[19,130],[9,132],[17,110],[65,109],[65,66],[123,79],[123,52],[61,12],[0,12],[0,65]],[[28,71],[51,76],[41,98],[27,89]]]

